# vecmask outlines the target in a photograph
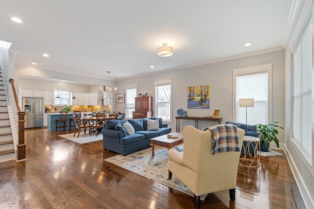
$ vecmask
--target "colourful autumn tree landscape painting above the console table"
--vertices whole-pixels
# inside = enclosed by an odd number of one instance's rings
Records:
[[[187,87],[188,109],[209,109],[209,85]]]

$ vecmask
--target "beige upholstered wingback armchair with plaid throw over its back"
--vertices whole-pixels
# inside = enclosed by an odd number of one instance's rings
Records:
[[[239,148],[244,130],[238,128]],[[200,196],[229,189],[235,201],[235,184],[240,152],[220,152],[212,155],[212,135],[209,130],[201,131],[187,125],[183,129],[183,152],[168,151],[168,169],[194,193],[195,208],[200,208]]]

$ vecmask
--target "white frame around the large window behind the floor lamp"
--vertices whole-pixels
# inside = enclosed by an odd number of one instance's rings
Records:
[[[265,65],[258,65],[246,68],[233,69],[233,121],[236,119],[236,76],[260,73],[267,71],[268,74],[268,123],[272,122],[272,63]]]

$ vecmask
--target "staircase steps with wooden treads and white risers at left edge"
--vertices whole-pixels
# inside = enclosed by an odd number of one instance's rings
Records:
[[[14,143],[12,138],[4,83],[0,72],[0,162],[15,159]]]

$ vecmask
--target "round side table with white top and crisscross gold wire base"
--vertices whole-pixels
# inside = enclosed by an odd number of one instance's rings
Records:
[[[243,142],[246,141],[246,145],[242,144],[244,153],[240,155],[239,165],[246,167],[259,167],[260,155],[258,154],[261,149],[261,139],[257,137],[244,136]],[[250,153],[250,147],[254,150],[254,153]]]

